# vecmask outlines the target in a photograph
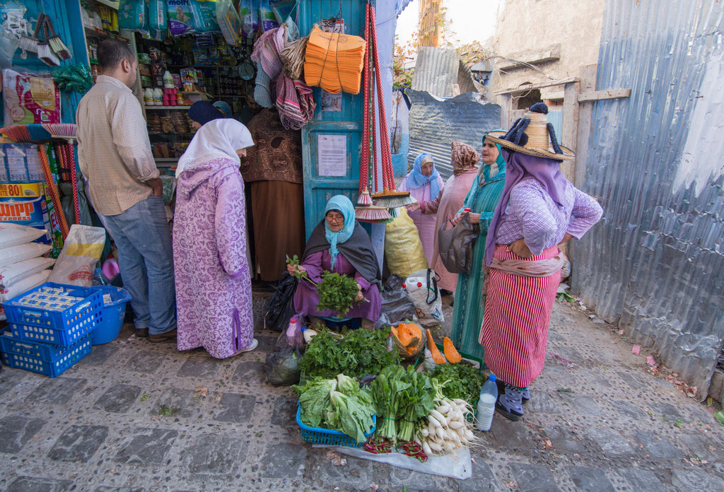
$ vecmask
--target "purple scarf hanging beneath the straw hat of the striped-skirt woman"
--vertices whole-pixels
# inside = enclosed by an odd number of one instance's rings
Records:
[[[568,185],[568,179],[565,179],[563,173],[560,172],[560,161],[529,156],[528,154],[514,152],[507,148],[502,148],[500,152],[508,165],[506,167],[505,185],[503,185],[502,188],[502,196],[497,207],[495,207],[485,241],[485,264],[487,266],[490,266],[493,259],[495,233],[497,232],[498,224],[500,224],[500,219],[505,217],[505,209],[508,208],[510,192],[513,190],[513,187],[518,185],[524,177],[532,176],[541,183],[543,190],[547,192],[548,196],[550,196],[558,206],[561,206],[563,205],[565,187]]]

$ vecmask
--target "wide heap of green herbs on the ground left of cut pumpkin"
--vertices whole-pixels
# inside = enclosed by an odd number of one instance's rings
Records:
[[[299,361],[306,377],[334,378],[339,373],[353,378],[379,374],[387,365],[397,364],[397,350],[387,349],[390,328],[346,331],[342,338],[328,328],[319,328]]]

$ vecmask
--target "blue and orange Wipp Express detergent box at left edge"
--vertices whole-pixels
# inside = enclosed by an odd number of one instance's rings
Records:
[[[0,185],[0,221],[43,229],[37,239],[53,245],[53,258],[63,248],[63,237],[52,200],[46,198],[43,183],[11,183]]]

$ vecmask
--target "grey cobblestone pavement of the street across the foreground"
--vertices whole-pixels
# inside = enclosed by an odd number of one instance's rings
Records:
[[[468,480],[351,457],[334,465],[304,443],[295,395],[265,383],[274,332],[214,360],[124,326],[58,378],[2,369],[0,491],[724,491],[712,410],[589,314],[555,305],[526,415],[496,415],[476,433]]]

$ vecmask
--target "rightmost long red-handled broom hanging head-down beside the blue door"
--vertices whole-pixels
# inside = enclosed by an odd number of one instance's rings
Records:
[[[410,196],[410,192],[407,191],[395,191],[395,177],[392,174],[392,153],[390,152],[390,132],[387,131],[387,115],[384,111],[384,98],[382,96],[382,76],[379,71],[379,54],[377,50],[377,28],[376,28],[376,15],[374,13],[374,7],[371,4],[367,4],[367,14],[369,18],[369,36],[367,39],[367,53],[369,56],[373,56],[374,59],[370,61],[370,65],[374,62],[374,76],[376,84],[372,83],[373,95],[377,96],[378,108],[379,108],[379,135],[382,151],[382,192],[374,193],[372,198],[375,200],[375,205],[382,206],[384,208],[397,208],[404,207],[405,205],[411,205],[415,202]],[[367,26],[365,26],[365,33],[368,32]],[[370,43],[370,41],[372,41]],[[373,68],[372,66],[370,68]],[[374,116],[373,116],[374,118]],[[376,132],[373,135],[376,138]],[[382,140],[386,140],[382,143]],[[375,169],[376,171],[376,169]],[[375,184],[377,184],[375,179]],[[379,188],[378,188],[379,189]]]

